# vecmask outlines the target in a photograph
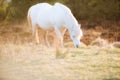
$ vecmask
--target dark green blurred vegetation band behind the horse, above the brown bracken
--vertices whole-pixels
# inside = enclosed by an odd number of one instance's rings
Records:
[[[25,19],[28,8],[39,2],[67,5],[78,20],[120,20],[120,0],[0,0],[0,20]]]

